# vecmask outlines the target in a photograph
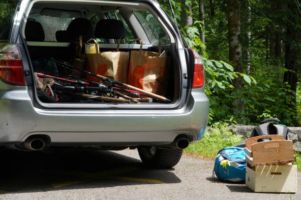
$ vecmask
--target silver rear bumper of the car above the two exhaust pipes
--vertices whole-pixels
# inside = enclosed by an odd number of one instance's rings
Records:
[[[179,134],[200,140],[208,122],[204,89],[193,89],[178,110],[39,109],[26,87],[0,91],[0,145],[43,134],[51,145],[163,145]]]

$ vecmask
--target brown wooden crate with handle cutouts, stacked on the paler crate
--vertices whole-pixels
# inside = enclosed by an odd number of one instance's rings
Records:
[[[258,142],[261,138],[271,141]],[[263,135],[245,140],[245,159],[250,166],[278,165],[296,161],[293,141],[283,140],[282,135]]]

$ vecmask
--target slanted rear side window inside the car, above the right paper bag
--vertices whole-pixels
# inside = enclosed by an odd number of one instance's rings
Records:
[[[149,11],[135,10],[133,12],[152,44],[158,44],[161,39],[170,43],[170,39],[159,21]]]

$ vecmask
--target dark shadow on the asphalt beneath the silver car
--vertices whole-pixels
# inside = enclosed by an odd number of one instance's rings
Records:
[[[181,182],[173,169],[149,169],[116,151],[1,149],[0,156],[0,194]]]

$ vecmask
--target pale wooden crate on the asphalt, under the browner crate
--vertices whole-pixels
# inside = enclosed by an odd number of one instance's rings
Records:
[[[245,185],[254,192],[296,193],[296,165],[257,165],[246,167]]]

